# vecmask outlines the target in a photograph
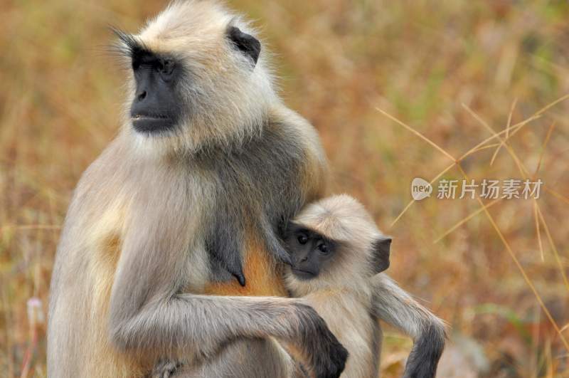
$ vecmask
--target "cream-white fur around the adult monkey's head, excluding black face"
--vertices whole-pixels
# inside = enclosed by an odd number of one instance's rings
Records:
[[[250,23],[218,1],[174,1],[134,36],[151,51],[182,58],[186,73],[181,93],[189,107],[189,117],[174,132],[160,135],[139,134],[127,120],[124,129],[136,134],[137,147],[152,153],[191,153],[212,145],[235,147],[260,134],[270,105],[278,101],[268,54],[262,48],[253,68],[227,37],[230,26],[256,35]],[[135,91],[130,81],[127,106]]]

